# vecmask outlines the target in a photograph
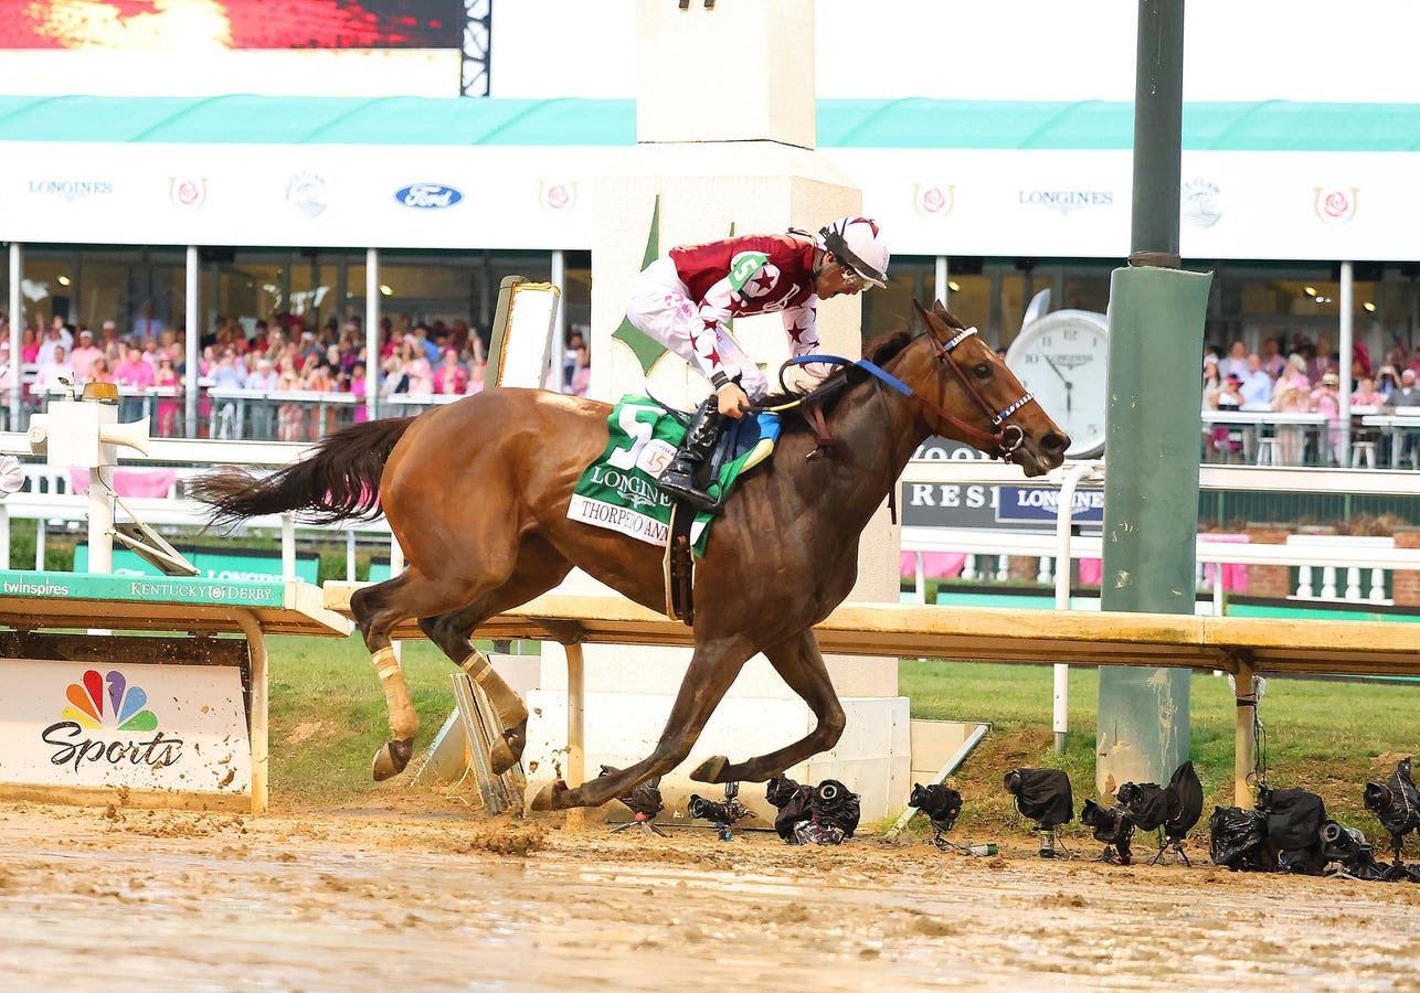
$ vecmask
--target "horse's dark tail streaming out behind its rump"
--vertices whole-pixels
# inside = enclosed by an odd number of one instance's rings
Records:
[[[212,506],[212,523],[301,511],[315,523],[371,521],[381,514],[379,478],[413,417],[368,421],[322,438],[300,462],[260,477],[227,465],[193,481],[190,494]]]

